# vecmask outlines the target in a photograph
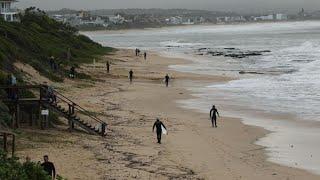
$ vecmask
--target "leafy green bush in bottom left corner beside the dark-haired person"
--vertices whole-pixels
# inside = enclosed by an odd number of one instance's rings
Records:
[[[3,180],[50,180],[39,164],[21,163],[16,157],[9,158],[0,150],[0,179]]]

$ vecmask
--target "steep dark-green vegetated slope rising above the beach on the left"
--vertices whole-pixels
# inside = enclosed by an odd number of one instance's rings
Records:
[[[19,23],[0,20],[2,72],[12,71],[12,63],[21,61],[30,64],[52,80],[62,81],[70,66],[92,62],[93,58],[112,51],[111,48],[102,47],[88,37],[78,34],[75,28],[49,18],[35,8],[28,8],[20,19]],[[68,54],[70,59],[67,58]],[[58,72],[51,70],[50,56],[54,56],[60,65]]]

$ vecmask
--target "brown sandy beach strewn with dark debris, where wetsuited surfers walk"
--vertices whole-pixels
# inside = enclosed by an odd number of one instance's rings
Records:
[[[106,72],[105,63],[111,62]],[[118,50],[79,71],[90,80],[52,83],[31,67],[17,65],[33,83],[47,81],[56,89],[95,112],[108,123],[104,138],[81,131],[69,133],[67,121],[49,131],[24,129],[18,139],[18,156],[41,161],[48,154],[58,174],[68,179],[319,179],[307,171],[266,161],[264,147],[254,142],[269,133],[246,126],[240,119],[222,117],[212,128],[209,115],[186,110],[176,101],[192,96],[184,84],[225,82],[221,76],[202,76],[168,69],[184,64],[150,52],[148,59],[132,50]],[[128,71],[134,72],[133,83]],[[168,88],[166,74],[172,77]],[[208,111],[209,111],[208,107]],[[156,143],[152,125],[160,118],[169,134]]]

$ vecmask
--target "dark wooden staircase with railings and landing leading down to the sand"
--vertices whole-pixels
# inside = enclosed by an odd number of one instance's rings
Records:
[[[69,130],[73,130],[75,125],[85,130],[90,134],[96,134],[105,136],[107,124],[96,117],[94,114],[90,113],[86,109],[82,108],[80,105],[76,104],[74,101],[70,100],[58,91],[53,90],[56,101],[53,102],[52,98],[47,97],[48,87],[45,85],[38,86],[1,86],[0,89],[5,89],[6,91],[11,90],[18,94],[18,98],[1,98],[3,102],[8,105],[19,106],[21,104],[38,103],[41,109],[50,109],[58,113],[60,116],[68,120]],[[19,90],[26,89],[37,89],[39,90],[39,98],[23,98],[19,97]],[[19,108],[17,108],[19,109]],[[39,111],[41,111],[39,109]],[[17,110],[18,111],[18,110]],[[17,114],[19,112],[16,112]],[[39,112],[40,113],[40,112]]]

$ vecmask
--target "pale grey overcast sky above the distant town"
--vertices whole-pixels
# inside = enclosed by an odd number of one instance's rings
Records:
[[[221,11],[320,10],[320,0],[19,0],[18,7],[45,10],[115,8],[187,8]]]

